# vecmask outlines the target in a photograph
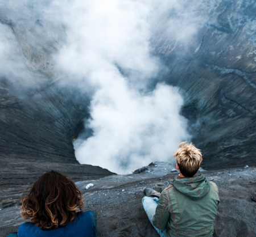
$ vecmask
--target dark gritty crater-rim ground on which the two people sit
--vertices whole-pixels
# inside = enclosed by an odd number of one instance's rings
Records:
[[[177,172],[171,172],[173,168],[170,163],[157,162],[131,175],[78,181],[77,186],[84,192],[85,209],[95,210],[98,215],[98,236],[158,236],[144,213],[142,189],[162,191],[177,176]],[[256,167],[200,171],[214,179],[219,188],[221,202],[214,223],[215,236],[256,236],[256,202],[251,200],[256,194],[255,171]],[[85,189],[89,183],[94,186]],[[22,222],[15,206],[2,209],[0,236],[16,231]]]

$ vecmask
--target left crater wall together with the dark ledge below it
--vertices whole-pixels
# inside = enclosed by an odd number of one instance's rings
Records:
[[[75,158],[72,141],[88,116],[89,100],[53,77],[51,56],[64,39],[64,28],[40,20],[27,1],[0,5],[1,209],[15,205],[18,193],[48,170],[74,180],[113,173]]]

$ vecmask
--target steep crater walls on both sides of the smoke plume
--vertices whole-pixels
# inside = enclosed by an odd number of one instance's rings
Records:
[[[65,27],[40,18],[48,1],[1,4],[0,25],[16,45],[13,57],[22,58],[20,74],[0,78],[1,159],[77,163],[72,139],[89,116],[89,96],[61,85],[53,71],[52,55],[65,41]],[[168,71],[161,78],[180,88],[181,113],[203,150],[205,168],[255,164],[256,6],[253,1],[204,4],[194,12],[198,32],[191,43],[162,34],[164,23],[155,29],[151,45]]]

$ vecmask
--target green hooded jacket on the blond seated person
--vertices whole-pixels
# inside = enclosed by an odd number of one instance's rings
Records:
[[[219,202],[217,185],[204,175],[177,178],[161,193],[153,224],[170,237],[212,237]]]

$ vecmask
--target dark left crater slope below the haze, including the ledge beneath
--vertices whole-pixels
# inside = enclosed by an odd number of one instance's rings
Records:
[[[75,92],[72,98],[65,94],[67,90],[52,85],[20,100],[2,86],[0,208],[15,205],[20,192],[49,170],[74,180],[113,174],[101,167],[81,165],[75,159],[72,141],[86,115],[86,107],[79,107],[76,100],[86,100],[76,98]]]

